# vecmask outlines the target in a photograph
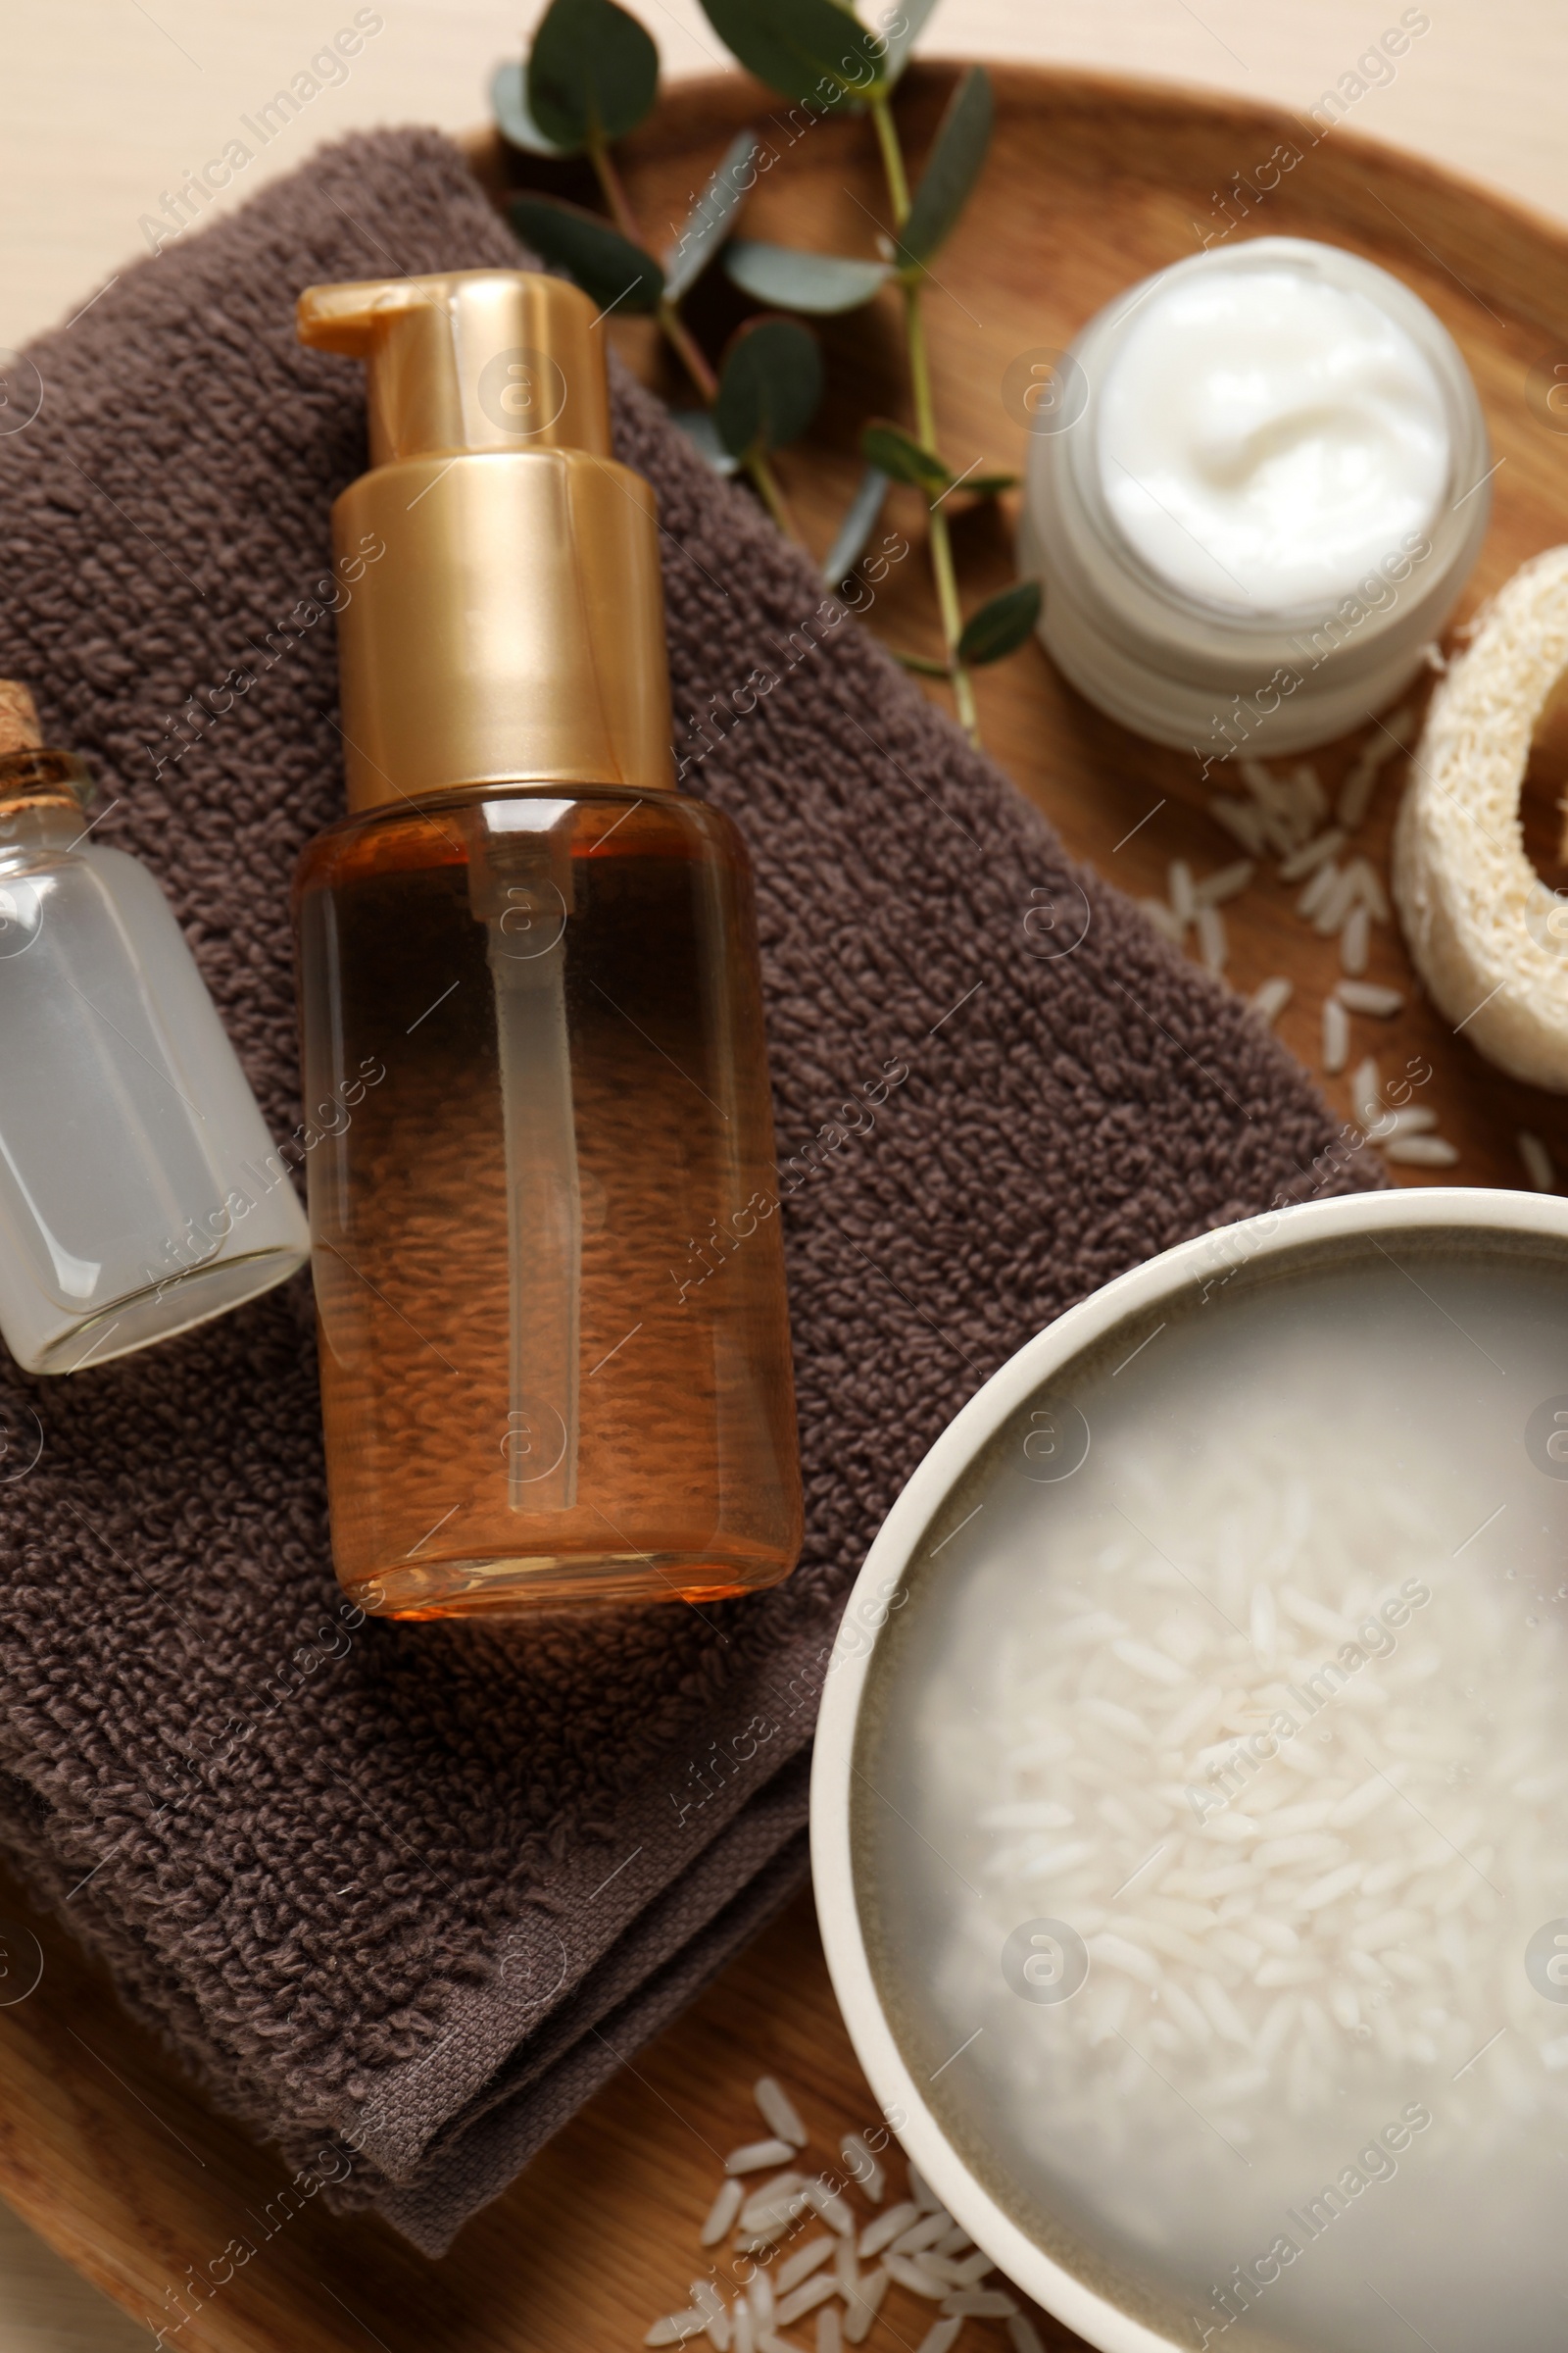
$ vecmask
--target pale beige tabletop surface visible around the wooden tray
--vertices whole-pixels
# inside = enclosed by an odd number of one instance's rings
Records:
[[[353,24],[357,0],[28,0],[0,82],[0,346],[71,318],[146,252],[165,188],[219,155],[275,89]],[[348,80],[322,89],[237,176],[240,202],[313,146],[381,122],[465,129],[491,66],[520,54],[543,0],[378,0]],[[696,0],[635,0],[668,73],[724,64]],[[947,0],[924,47],[1135,71],[1305,111],[1354,73],[1403,0]],[[1429,0],[1396,78],[1352,108],[1359,132],[1439,158],[1568,219],[1568,9]],[[256,144],[247,139],[247,144]],[[0,2353],[146,2346],[0,2207]]]

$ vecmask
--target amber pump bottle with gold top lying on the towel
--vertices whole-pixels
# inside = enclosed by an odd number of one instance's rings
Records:
[[[750,868],[675,791],[658,539],[592,306],[313,287],[350,814],[296,880],[331,1541],[383,1617],[698,1600],[802,1541]]]

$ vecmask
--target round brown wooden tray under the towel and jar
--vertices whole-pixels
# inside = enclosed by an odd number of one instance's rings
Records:
[[[954,68],[910,73],[900,111],[910,146],[929,139]],[[1001,374],[1020,351],[1063,346],[1110,294],[1178,259],[1225,226],[1220,195],[1244,184],[1279,144],[1302,160],[1234,231],[1288,231],[1349,245],[1413,285],[1458,336],[1486,402],[1495,454],[1495,520],[1476,593],[1495,588],[1526,555],[1568,539],[1568,438],[1530,405],[1530,372],[1568,360],[1568,235],[1465,188],[1441,172],[1368,146],[1352,132],[1316,139],[1288,115],[1234,99],[1194,99],[1074,73],[994,68],[999,120],[980,195],[940,261],[929,301],[936,393],[947,456],[1018,466],[1023,431],[1001,407]],[[628,146],[625,176],[642,219],[665,235],[743,122],[773,118],[755,85],[712,80],[682,87]],[[480,169],[498,181],[494,146]],[[541,184],[555,174],[541,169]],[[569,184],[555,176],[555,184]],[[837,252],[872,252],[882,193],[865,125],[820,122],[759,184],[748,216],[757,235]],[[715,273],[717,280],[717,273]],[[722,280],[693,304],[698,332],[722,336],[741,306]],[[856,431],[865,414],[900,416],[898,320],[889,306],[825,325],[830,395],[811,445],[788,452],[783,478],[797,515],[823,553],[858,473]],[[630,358],[661,388],[644,329],[623,332]],[[922,508],[898,492],[891,513],[919,544]],[[1011,515],[976,511],[957,522],[966,595],[1011,576]],[[872,626],[905,647],[936,652],[919,565],[900,565]],[[1206,814],[1197,762],[1161,753],[1100,720],[1053,675],[1039,647],[980,678],[990,748],[1053,819],[1072,849],[1131,892],[1161,892],[1166,864],[1227,864],[1237,852]],[[1338,776],[1342,758],[1321,762]],[[1528,840],[1549,882],[1559,880],[1552,746],[1535,762]],[[1385,859],[1396,779],[1385,776],[1368,847]],[[898,802],[889,788],[889,821]],[[1260,880],[1227,906],[1232,979],[1251,988],[1288,974],[1298,995],[1281,1031],[1316,1061],[1319,1002],[1333,984],[1335,944],[1291,913],[1291,894]],[[1373,976],[1410,986],[1396,934],[1380,932]],[[1356,1052],[1373,1042],[1359,1024]],[[1488,1071],[1425,1002],[1375,1026],[1385,1066],[1408,1054],[1434,1064],[1429,1099],[1460,1146],[1458,1176],[1521,1184],[1514,1151],[1530,1127],[1568,1169],[1568,1104]],[[1328,1087],[1347,1106],[1345,1080]],[[1399,1172],[1413,1176],[1415,1172]],[[136,2320],[174,2329],[214,2353],[614,2353],[637,2346],[649,2320],[684,2301],[698,2268],[698,2224],[712,2198],[719,2153],[755,2132],[750,2082],[776,2071],[802,2097],[813,2146],[865,2127],[875,2106],[853,2064],[816,1944],[806,1901],[752,1951],[651,2052],[630,2064],[529,2172],[480,2214],[440,2264],[425,2264],[374,2221],[336,2224],[317,2205],[280,2221],[284,2169],[197,2092],[120,2012],[110,1988],[66,1929],[0,1892],[5,1946],[45,1955],[38,1991],[0,2007],[0,2193],[42,2235],[118,2297]],[[0,1979],[0,1995],[16,1981]],[[233,2238],[259,2252],[214,2294],[195,2297]],[[914,2346],[929,2306],[896,2292],[884,2306],[903,2346]],[[1044,2327],[1048,2344],[1072,2344]],[[882,2339],[886,2341],[886,2339]],[[966,2353],[990,2353],[994,2325],[971,2322]]]

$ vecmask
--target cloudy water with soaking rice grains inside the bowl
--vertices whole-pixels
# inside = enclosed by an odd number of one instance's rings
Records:
[[[1178,2344],[1568,2339],[1566,1506],[1568,1266],[1396,1235],[1215,1259],[919,1546],[882,1998],[992,2195]]]

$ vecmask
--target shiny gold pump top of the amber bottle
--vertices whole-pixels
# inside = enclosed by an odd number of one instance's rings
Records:
[[[350,812],[672,791],[656,501],[609,454],[588,296],[531,271],[320,285],[299,339],[367,369],[371,464],[331,511]]]

